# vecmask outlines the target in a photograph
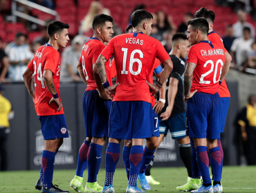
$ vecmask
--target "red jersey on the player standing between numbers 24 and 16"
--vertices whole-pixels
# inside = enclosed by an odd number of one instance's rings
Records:
[[[84,77],[87,82],[86,91],[96,90],[97,85],[93,77],[93,63],[95,63],[100,55],[100,52],[105,48],[105,45],[98,38],[91,38],[86,41],[82,47],[82,54],[79,62],[82,63],[82,69]],[[106,69],[109,69],[109,61],[105,63]],[[112,79],[109,78],[109,70],[107,70],[107,78],[110,85],[112,85]]]

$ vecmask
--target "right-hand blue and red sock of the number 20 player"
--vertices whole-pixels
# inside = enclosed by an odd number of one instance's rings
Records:
[[[214,174],[213,181],[221,181],[221,152],[219,147],[211,148],[210,153],[210,162],[212,165],[212,171]]]

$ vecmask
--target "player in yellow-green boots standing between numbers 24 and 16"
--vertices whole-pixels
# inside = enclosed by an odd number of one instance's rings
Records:
[[[104,42],[109,42],[113,34],[113,19],[106,14],[98,14],[93,18],[93,37],[84,43],[81,57],[77,63],[77,70],[81,79],[87,85],[83,94],[84,127],[86,139],[78,152],[77,170],[70,186],[76,192],[101,192],[102,187],[97,183],[97,174],[100,170],[101,151],[108,133],[111,99],[104,88],[95,83],[93,64],[100,52],[105,48]],[[105,63],[107,77],[112,81],[109,73],[109,61]],[[112,84],[112,83],[111,83]],[[99,92],[102,90],[103,92]],[[103,94],[102,94],[103,93]],[[100,97],[101,96],[101,97]],[[104,98],[104,99],[102,99]],[[88,162],[88,180],[83,188],[83,173]]]

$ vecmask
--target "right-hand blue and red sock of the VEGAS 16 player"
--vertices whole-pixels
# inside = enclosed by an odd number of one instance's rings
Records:
[[[133,145],[130,153],[130,176],[128,185],[135,187],[143,159],[143,145]]]

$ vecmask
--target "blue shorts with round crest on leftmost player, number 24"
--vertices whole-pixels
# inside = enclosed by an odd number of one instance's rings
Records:
[[[64,114],[38,116],[44,140],[68,138]]]

